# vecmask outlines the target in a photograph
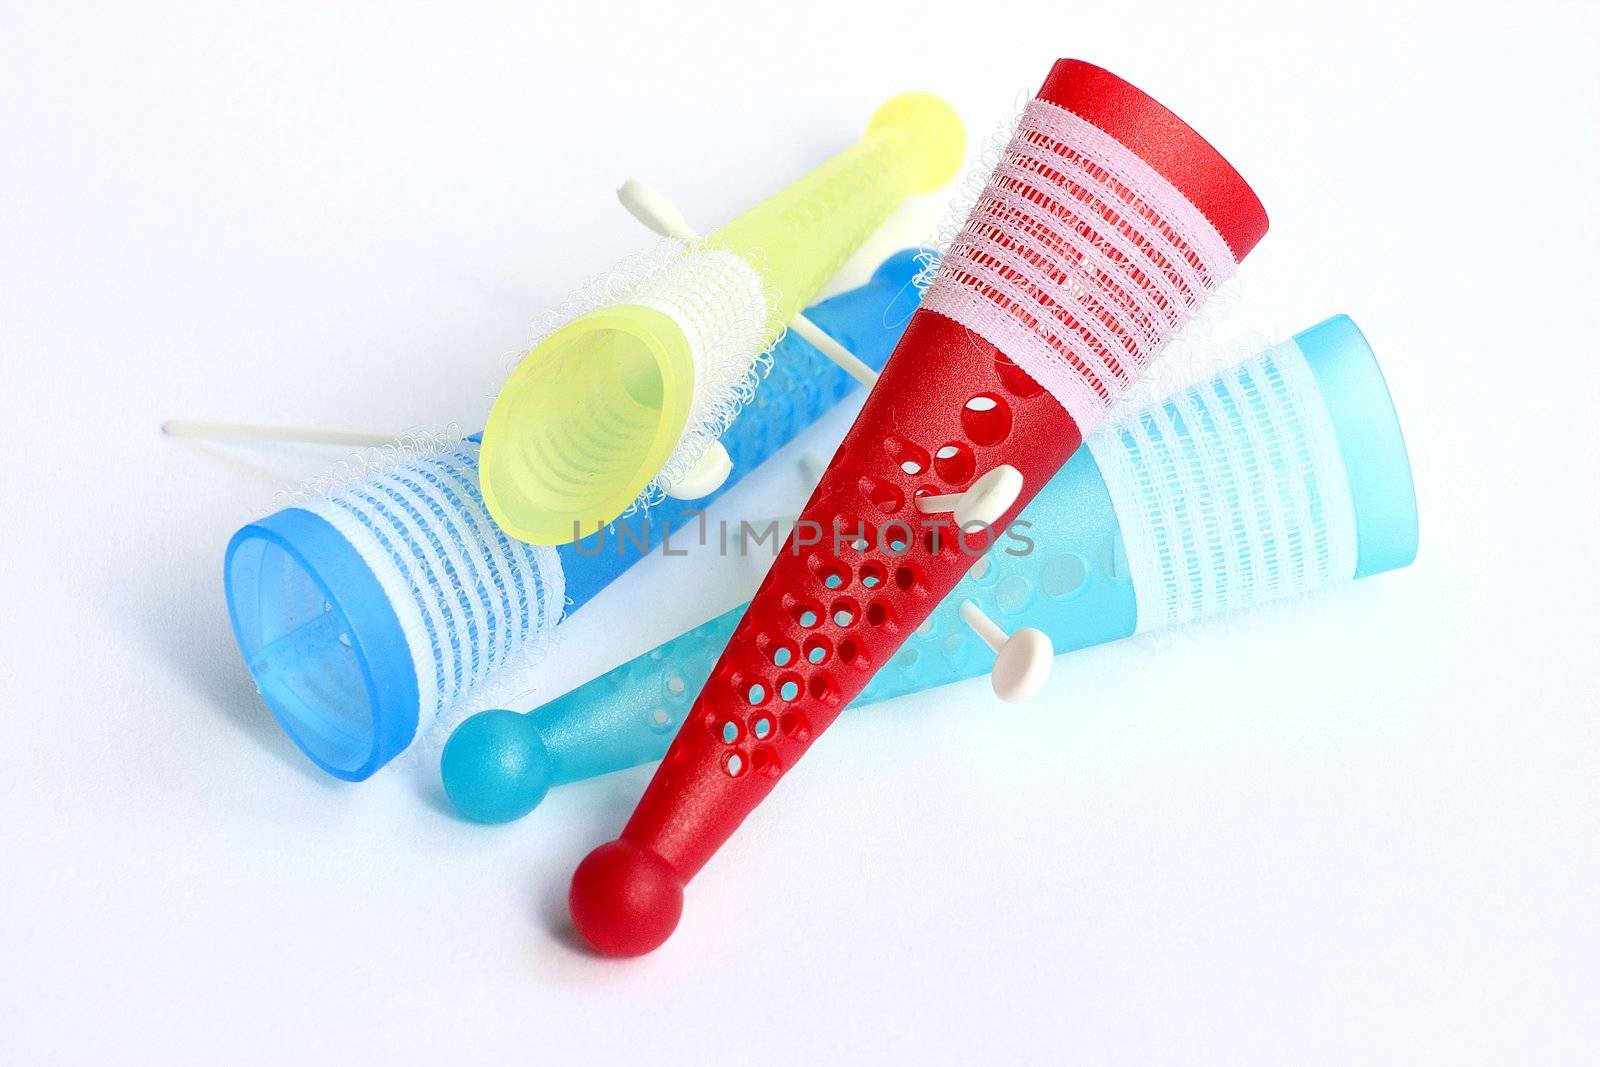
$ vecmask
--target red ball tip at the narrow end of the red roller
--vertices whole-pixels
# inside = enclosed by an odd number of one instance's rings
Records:
[[[672,864],[632,841],[610,841],[573,872],[573,925],[606,957],[642,957],[672,936],[683,883]]]

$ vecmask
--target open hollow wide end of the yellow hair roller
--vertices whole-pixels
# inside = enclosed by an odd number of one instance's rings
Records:
[[[530,544],[611,522],[672,454],[693,390],[693,350],[662,312],[624,304],[557,331],[512,373],[483,430],[494,522]]]

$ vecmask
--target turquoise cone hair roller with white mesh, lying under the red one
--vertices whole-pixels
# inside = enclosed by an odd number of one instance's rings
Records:
[[[1022,512],[1018,530],[1030,541],[978,560],[851,707],[990,672],[1002,696],[1024,696],[1018,678],[1048,667],[1040,641],[1075,651],[1416,555],[1400,422],[1376,358],[1342,315],[1102,426],[1085,445]],[[446,795],[469,819],[506,822],[549,785],[659,760],[742,614],[717,616],[533,712],[466,720],[443,752]],[[1021,672],[1002,677],[995,641]],[[827,654],[816,637],[774,665]],[[779,705],[798,696],[798,678],[776,685]],[[750,723],[757,739],[773,728],[771,717]]]

